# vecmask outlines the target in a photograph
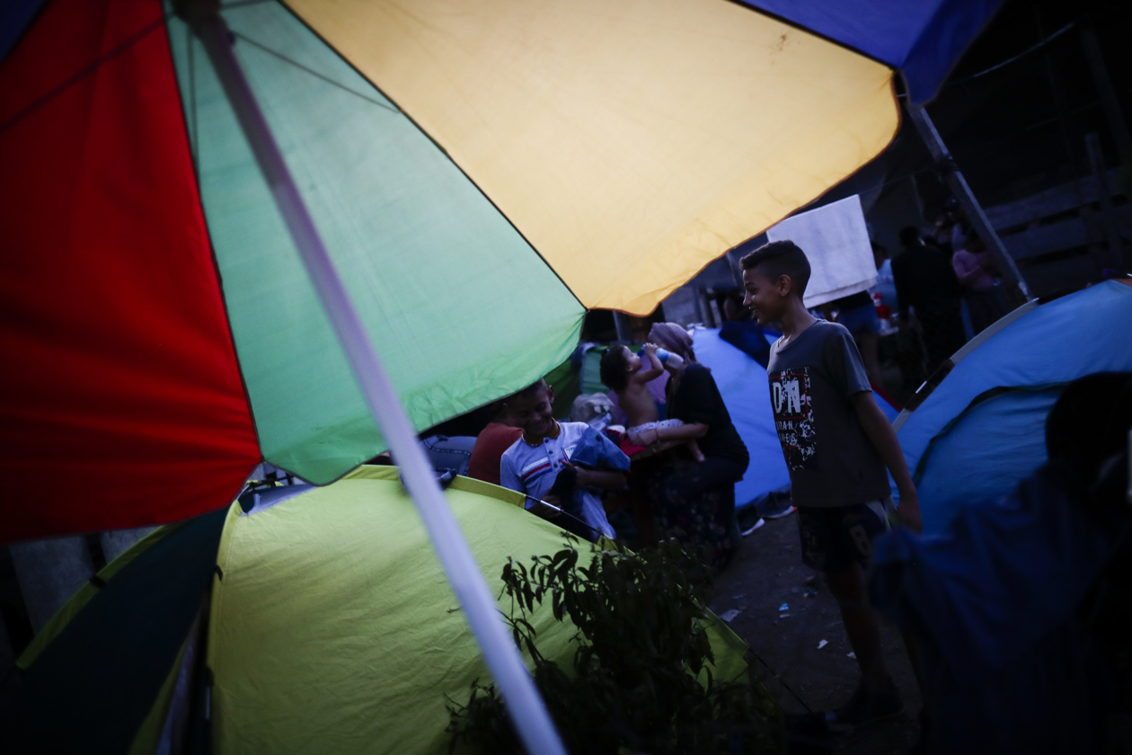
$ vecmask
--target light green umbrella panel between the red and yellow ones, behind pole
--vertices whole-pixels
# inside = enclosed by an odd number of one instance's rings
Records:
[[[224,19],[413,424],[514,392],[571,353],[582,304],[404,113],[282,5]],[[168,24],[264,458],[329,482],[383,441],[200,42]]]

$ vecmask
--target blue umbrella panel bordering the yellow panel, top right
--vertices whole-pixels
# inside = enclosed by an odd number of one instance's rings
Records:
[[[741,0],[899,68],[915,104],[935,96],[1002,0]]]

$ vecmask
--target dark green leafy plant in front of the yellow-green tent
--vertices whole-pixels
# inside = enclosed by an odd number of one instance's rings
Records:
[[[675,541],[640,557],[604,542],[582,560],[578,541],[530,566],[508,559],[500,595],[512,599],[515,643],[573,753],[781,753],[782,717],[757,680],[720,681],[703,621],[711,569]],[[549,601],[554,618],[578,628],[573,663],[538,646],[530,617]],[[494,685],[472,684],[448,707],[452,750],[522,753]]]

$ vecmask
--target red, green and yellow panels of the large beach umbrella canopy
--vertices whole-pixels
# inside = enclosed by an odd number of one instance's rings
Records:
[[[222,17],[418,429],[560,363],[586,308],[651,311],[899,123],[900,61],[727,0]],[[261,460],[326,483],[380,452],[172,8],[11,0],[0,24],[0,541],[175,521]],[[941,28],[945,74],[970,35]]]

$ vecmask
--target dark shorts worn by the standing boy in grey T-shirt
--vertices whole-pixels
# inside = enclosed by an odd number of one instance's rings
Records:
[[[867,567],[873,541],[892,529],[895,515],[891,497],[849,506],[799,506],[803,564],[826,574],[843,572],[855,561]]]

